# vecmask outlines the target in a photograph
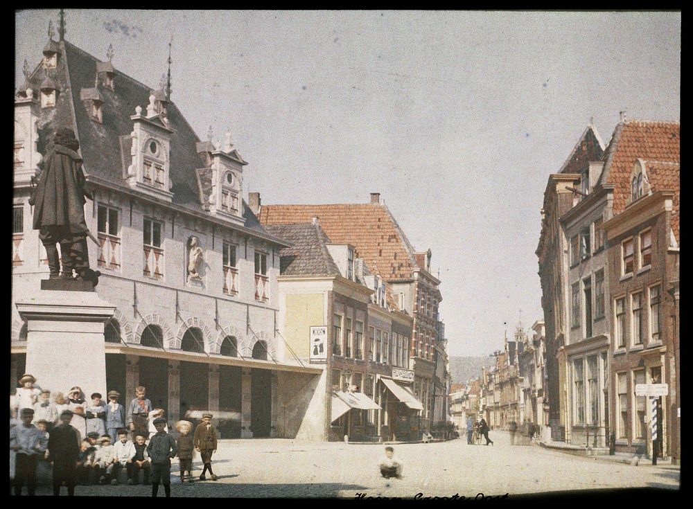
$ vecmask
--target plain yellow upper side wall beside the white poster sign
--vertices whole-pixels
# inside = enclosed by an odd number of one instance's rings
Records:
[[[286,341],[301,359],[310,357],[310,327],[324,323],[324,294],[286,296]]]

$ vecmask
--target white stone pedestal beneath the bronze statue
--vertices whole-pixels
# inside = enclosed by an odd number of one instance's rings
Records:
[[[106,394],[104,326],[116,309],[96,292],[41,290],[16,303],[26,320],[26,373],[37,385],[65,393],[80,386],[87,399]]]

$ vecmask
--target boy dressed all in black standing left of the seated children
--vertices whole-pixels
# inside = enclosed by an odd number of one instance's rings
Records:
[[[67,484],[67,494],[75,494],[77,459],[80,454],[80,436],[72,427],[72,411],[60,413],[60,425],[53,428],[48,440],[48,449],[53,461],[53,494],[60,495],[62,481]]]

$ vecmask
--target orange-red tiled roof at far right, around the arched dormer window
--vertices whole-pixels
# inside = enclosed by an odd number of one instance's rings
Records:
[[[613,214],[621,213],[631,192],[630,177],[637,159],[681,162],[681,124],[628,120],[619,123],[604,152],[600,184],[614,184]]]

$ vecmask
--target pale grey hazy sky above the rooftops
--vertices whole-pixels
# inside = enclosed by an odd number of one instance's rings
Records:
[[[380,193],[439,270],[450,355],[543,318],[543,192],[594,123],[679,120],[680,12],[65,11],[65,38],[230,130],[263,204]],[[58,10],[16,14],[15,78]],[[57,37],[56,37],[57,38]],[[146,105],[142,105],[146,107]],[[134,112],[133,112],[134,114]]]

